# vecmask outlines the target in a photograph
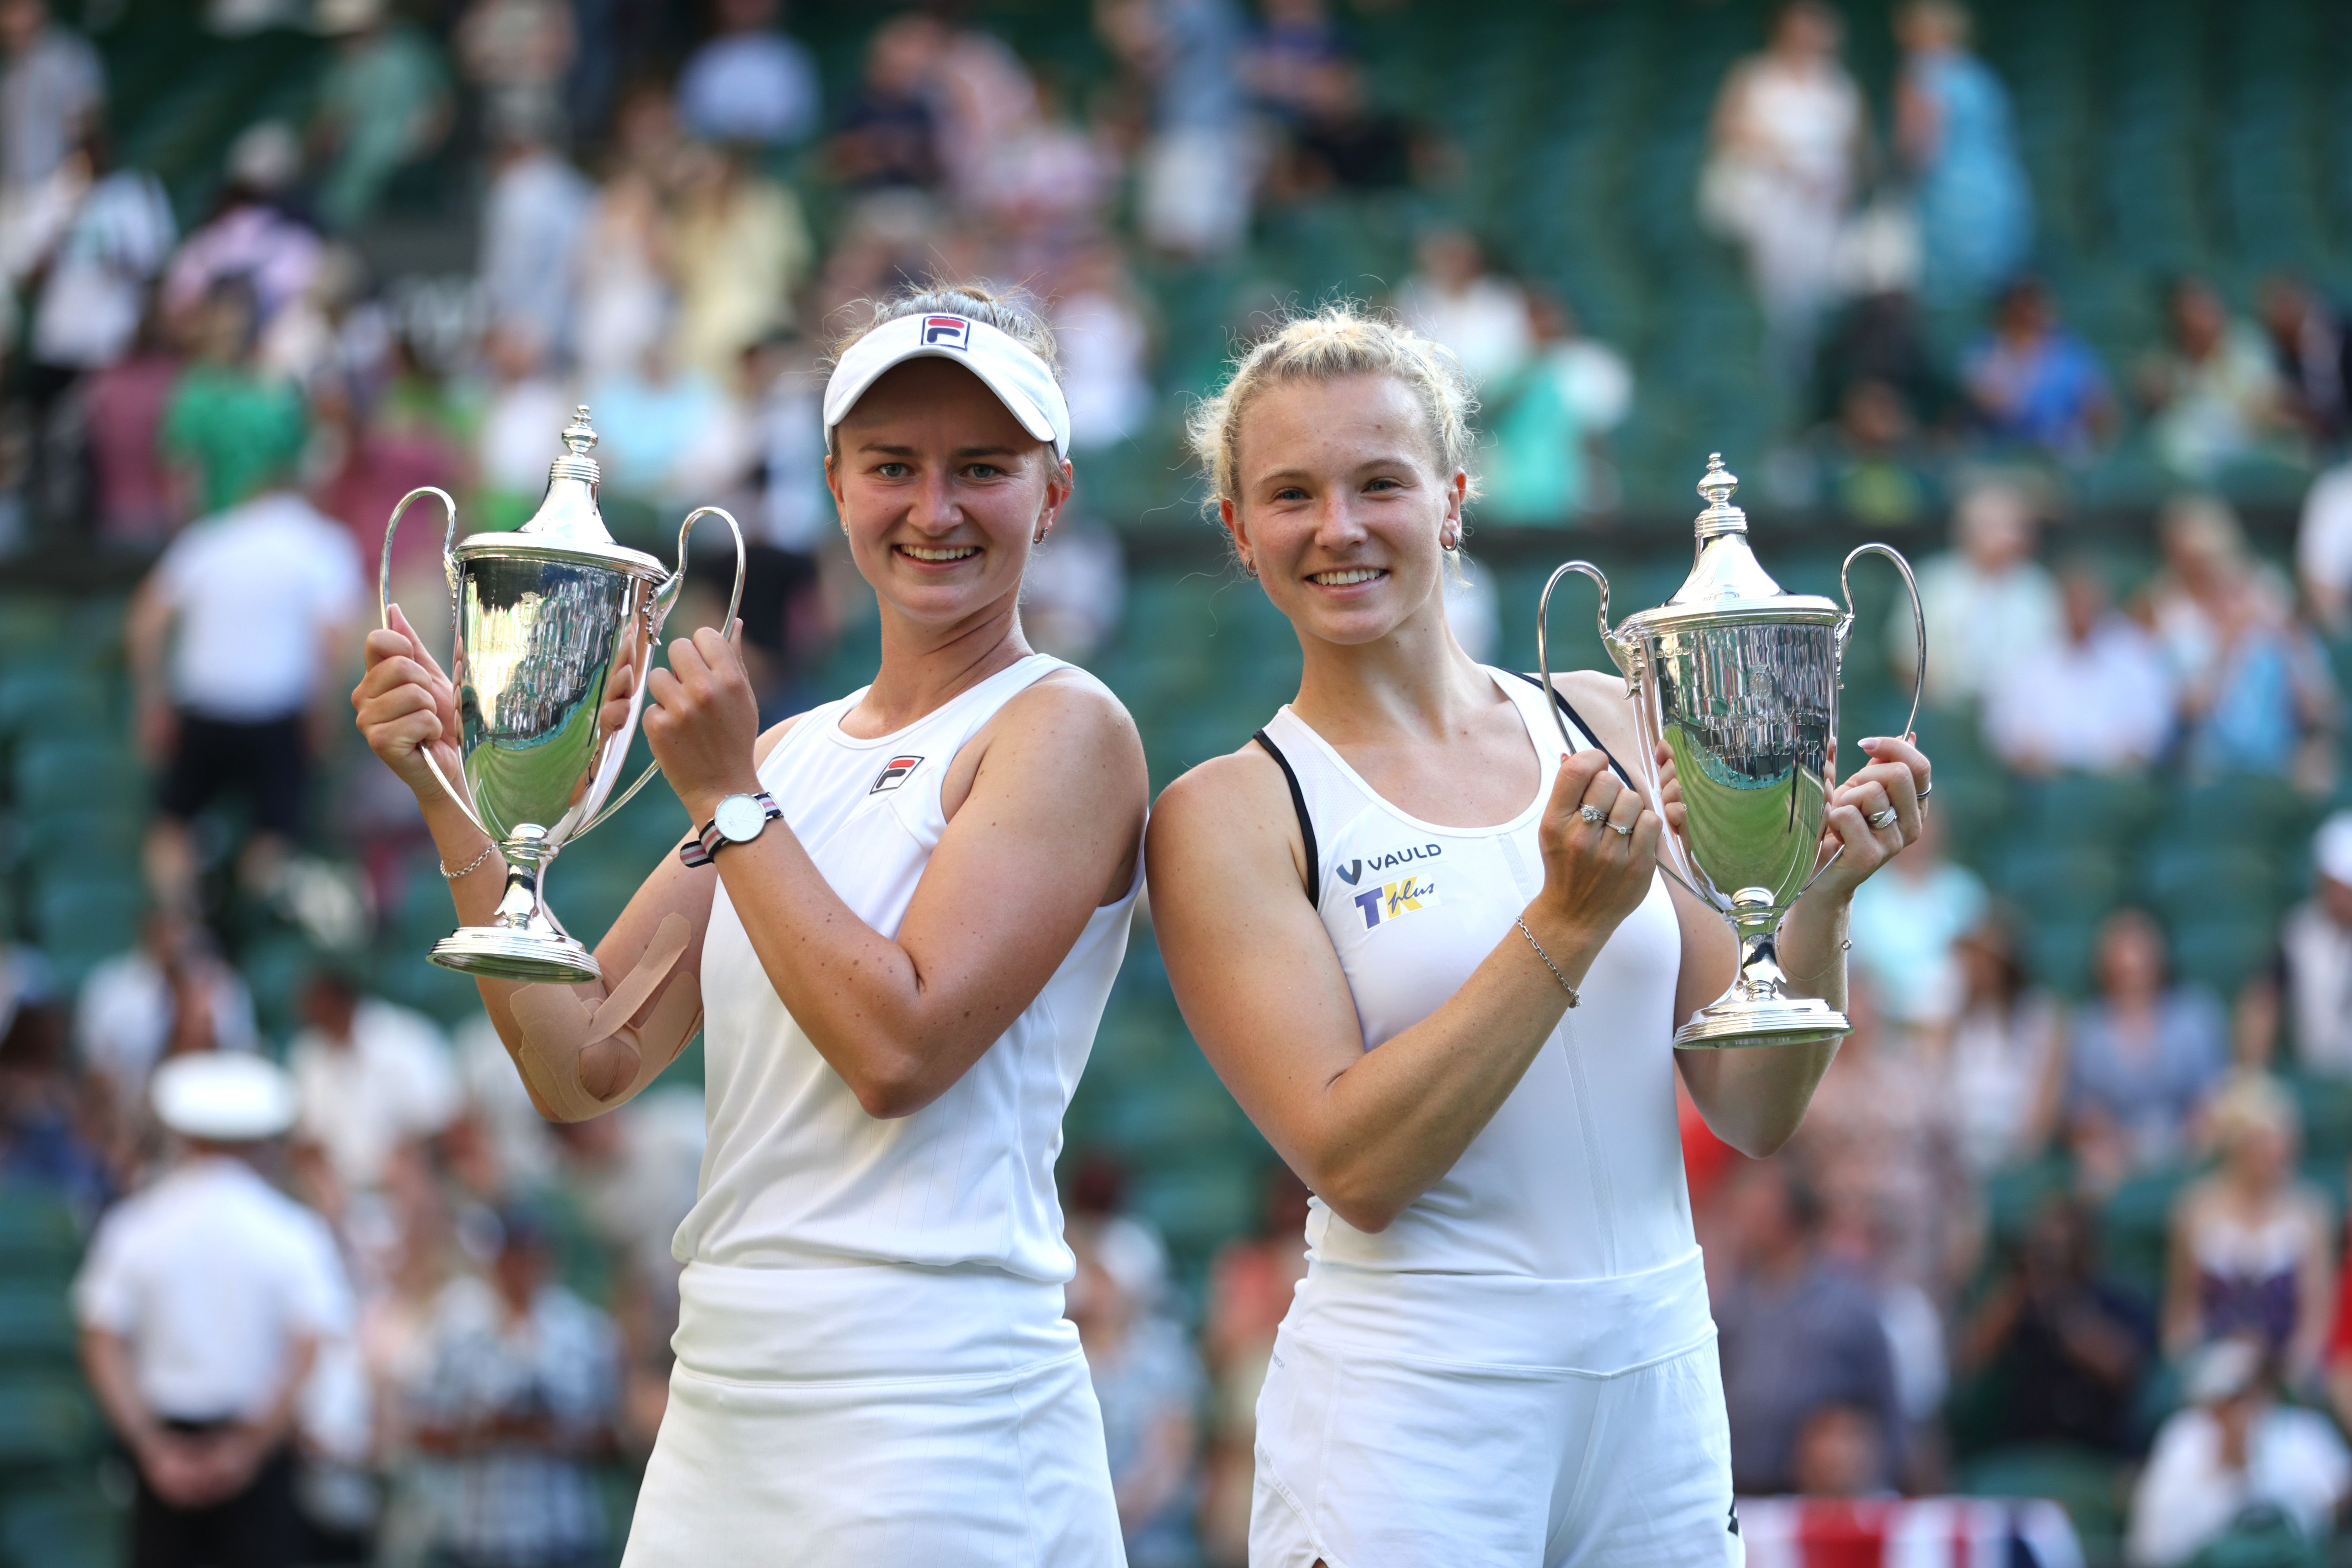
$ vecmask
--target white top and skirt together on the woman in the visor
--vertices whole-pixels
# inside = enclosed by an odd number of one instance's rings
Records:
[[[811,710],[760,785],[891,936],[946,830],[938,783],[1030,656],[880,741]],[[1091,677],[1084,677],[1091,679]],[[1141,886],[1141,867],[1136,886]],[[866,1114],[793,1023],[724,884],[703,940],[710,1143],[677,1229],[677,1368],[626,1568],[1122,1563],[1103,1418],[1061,1288],[1061,1117],[1136,889],[938,1100]]]

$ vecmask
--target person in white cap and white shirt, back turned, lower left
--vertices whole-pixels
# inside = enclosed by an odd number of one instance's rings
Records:
[[[174,1056],[151,1095],[183,1154],[99,1220],[73,1281],[89,1387],[139,1472],[132,1563],[278,1568],[299,1544],[299,1394],[350,1286],[327,1222],[254,1168],[294,1126],[282,1067]]]

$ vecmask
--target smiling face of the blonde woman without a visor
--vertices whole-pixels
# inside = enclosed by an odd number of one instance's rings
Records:
[[[1414,390],[1378,374],[1277,381],[1237,418],[1218,510],[1298,635],[1355,646],[1442,625],[1439,541],[1461,534],[1470,475],[1439,470]]]

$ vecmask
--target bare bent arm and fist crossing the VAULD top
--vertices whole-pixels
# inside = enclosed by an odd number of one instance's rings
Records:
[[[1588,802],[1632,832],[1578,820]],[[1649,893],[1658,818],[1599,752],[1578,752],[1541,835],[1545,884],[1522,917],[1573,985]],[[1256,745],[1169,785],[1148,865],[1192,1037],[1275,1152],[1357,1229],[1385,1229],[1454,1168],[1566,1011],[1515,926],[1435,1013],[1367,1051],[1331,933],[1301,891],[1289,788]]]

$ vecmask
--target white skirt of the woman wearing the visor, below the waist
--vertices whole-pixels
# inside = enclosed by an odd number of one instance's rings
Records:
[[[1061,1286],[687,1265],[623,1568],[1117,1568]]]

